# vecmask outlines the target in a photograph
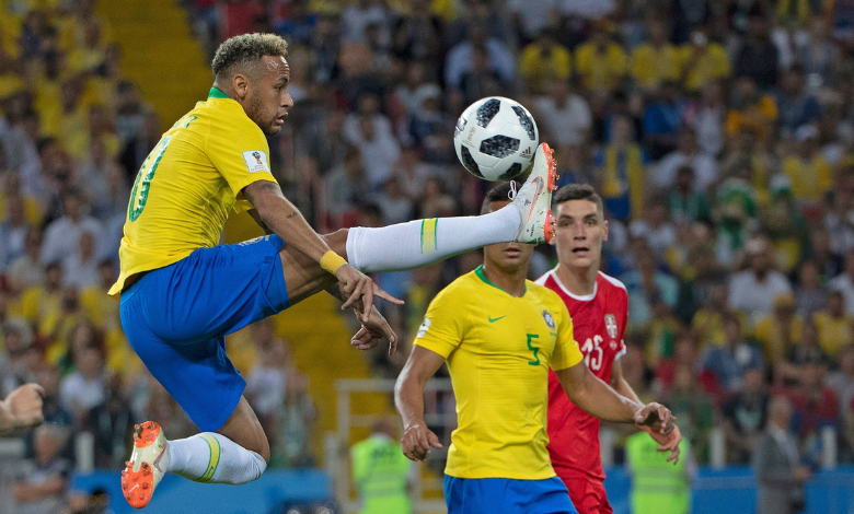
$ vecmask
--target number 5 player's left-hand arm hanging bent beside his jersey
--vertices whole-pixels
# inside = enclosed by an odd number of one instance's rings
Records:
[[[424,460],[430,447],[442,447],[424,422],[424,386],[443,362],[442,355],[416,346],[394,384],[394,405],[403,420],[403,454],[412,460]]]

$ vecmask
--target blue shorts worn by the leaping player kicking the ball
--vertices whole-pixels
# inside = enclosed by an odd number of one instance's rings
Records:
[[[269,235],[199,248],[122,293],[130,346],[203,432],[228,421],[246,386],[226,354],[226,335],[290,306],[284,245]]]

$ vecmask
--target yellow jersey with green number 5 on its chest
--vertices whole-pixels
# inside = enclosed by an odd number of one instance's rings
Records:
[[[545,432],[549,367],[581,362],[573,322],[553,291],[526,281],[515,297],[478,267],[430,302],[415,346],[448,362],[457,397],[446,475],[542,480],[555,476]]]

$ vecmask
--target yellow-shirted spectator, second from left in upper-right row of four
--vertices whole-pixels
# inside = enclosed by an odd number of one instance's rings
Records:
[[[612,90],[626,73],[625,51],[611,40],[607,23],[598,22],[575,52],[575,68],[589,90]]]

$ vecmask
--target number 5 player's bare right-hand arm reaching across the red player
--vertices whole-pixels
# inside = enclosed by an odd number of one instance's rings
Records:
[[[662,434],[673,430],[673,414],[665,406],[657,402],[645,406],[618,394],[593,375],[584,361],[555,373],[569,400],[591,416],[616,423],[648,425]]]

